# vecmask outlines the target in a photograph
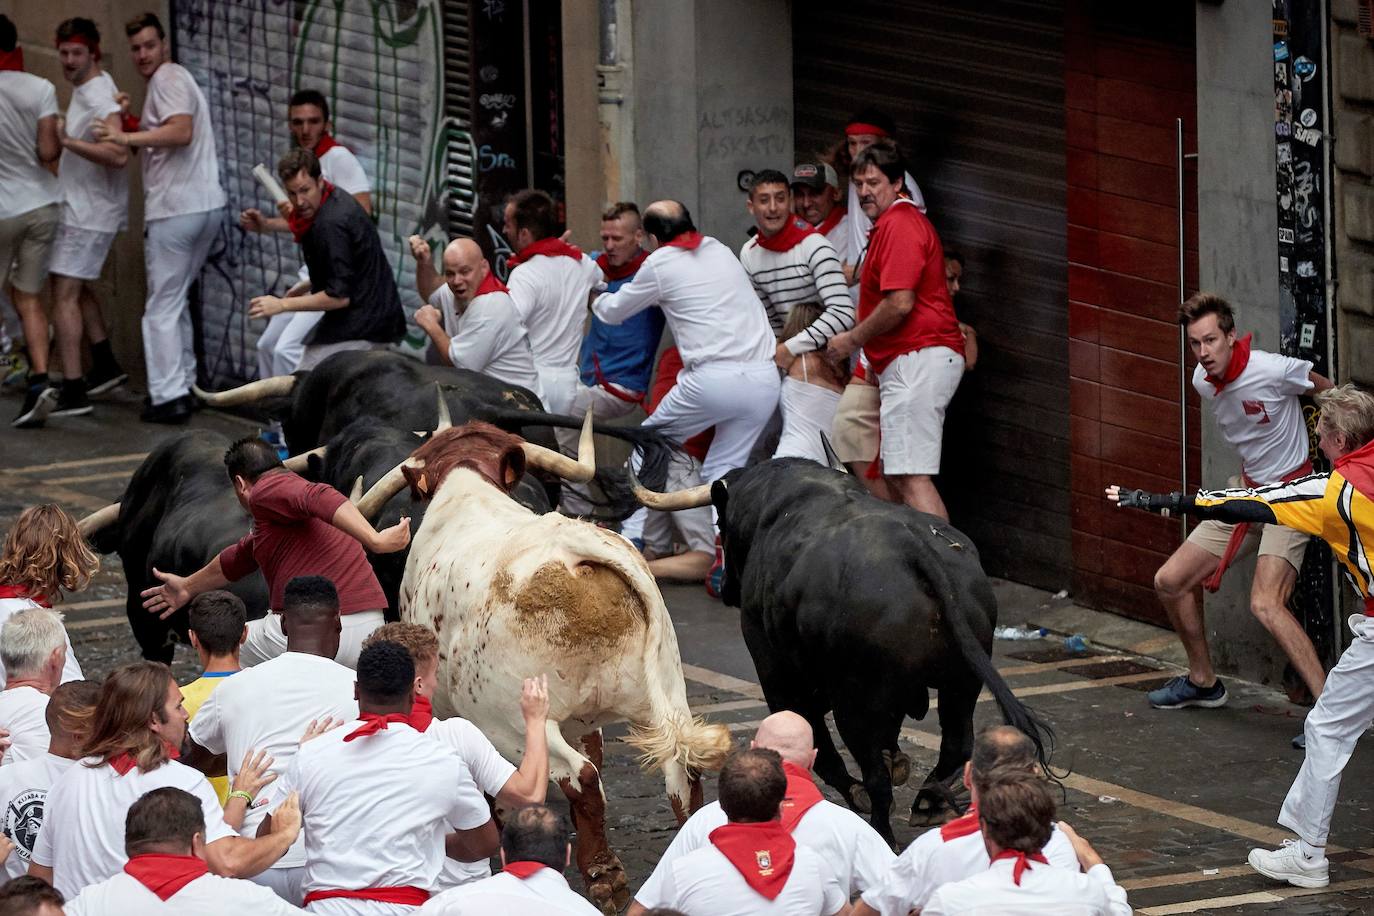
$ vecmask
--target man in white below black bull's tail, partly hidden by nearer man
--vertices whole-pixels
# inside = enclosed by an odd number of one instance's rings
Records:
[[[899,856],[882,879],[864,890],[855,916],[907,916],[926,905],[936,887],[988,871],[991,858],[978,821],[978,795],[988,773],[1035,770],[1035,744],[1010,725],[984,729],[973,742],[973,758],[963,766],[963,784],[971,803],[963,817],[918,836]],[[1069,838],[1051,829],[1043,853],[1057,868],[1077,869],[1079,860]]]

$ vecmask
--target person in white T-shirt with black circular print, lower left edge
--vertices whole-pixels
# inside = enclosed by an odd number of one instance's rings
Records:
[[[81,744],[91,728],[91,714],[100,696],[95,681],[67,681],[52,691],[45,711],[48,732],[47,754],[33,759],[0,766],[0,825],[14,843],[14,851],[4,860],[5,875],[19,878],[33,861],[33,843],[43,827],[43,810],[52,784],[81,759]]]

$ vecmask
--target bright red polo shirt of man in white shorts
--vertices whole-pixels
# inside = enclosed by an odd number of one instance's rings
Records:
[[[963,335],[944,279],[944,247],[930,220],[905,198],[883,210],[872,225],[859,279],[859,320],[872,314],[883,295],[896,290],[915,290],[916,304],[901,324],[863,345],[874,369],[882,372],[903,353],[927,346],[963,354]]]

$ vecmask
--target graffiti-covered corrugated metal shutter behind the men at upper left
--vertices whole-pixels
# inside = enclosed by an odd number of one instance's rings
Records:
[[[445,238],[447,150],[462,130],[444,117],[440,0],[173,0],[177,60],[201,84],[214,124],[224,224],[201,277],[203,374],[253,378],[265,321],[249,299],[283,294],[301,257],[290,235],[238,227],[246,207],[272,211],[253,179],[290,148],[287,99],[302,88],[330,102],[334,133],[363,163],[372,213],[407,310],[418,308],[407,239]]]

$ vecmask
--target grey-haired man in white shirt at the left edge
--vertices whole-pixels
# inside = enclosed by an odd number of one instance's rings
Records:
[[[66,656],[62,617],[45,607],[19,611],[0,626],[0,658],[7,673],[0,691],[0,729],[10,733],[11,742],[0,768],[48,750],[48,696],[62,683]]]

